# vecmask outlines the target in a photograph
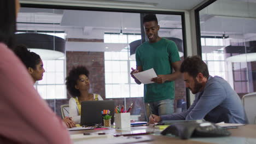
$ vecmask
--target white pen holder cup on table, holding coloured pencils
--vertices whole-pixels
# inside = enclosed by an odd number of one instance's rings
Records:
[[[130,128],[130,112],[126,113],[115,113],[115,128],[122,129],[122,128]]]

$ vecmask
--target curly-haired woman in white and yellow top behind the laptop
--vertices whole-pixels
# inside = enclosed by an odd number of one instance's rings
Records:
[[[100,94],[89,93],[89,71],[84,66],[73,67],[66,78],[66,86],[72,98],[69,99],[69,116],[76,123],[81,119],[81,102],[103,100]]]

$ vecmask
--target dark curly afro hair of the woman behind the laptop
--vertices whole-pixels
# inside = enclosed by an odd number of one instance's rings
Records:
[[[67,90],[72,95],[72,97],[79,97],[80,95],[78,89],[75,88],[75,85],[77,85],[77,80],[79,79],[79,75],[86,75],[89,78],[88,69],[82,65],[73,67],[66,77]]]

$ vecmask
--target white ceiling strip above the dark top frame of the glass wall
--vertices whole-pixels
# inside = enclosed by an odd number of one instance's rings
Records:
[[[114,7],[139,7],[154,9],[190,10],[205,0],[20,0],[21,3],[58,5],[103,5]]]

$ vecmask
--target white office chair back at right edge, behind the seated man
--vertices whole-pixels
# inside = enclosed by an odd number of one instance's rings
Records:
[[[242,104],[245,108],[249,124],[256,124],[256,92],[243,95]]]

